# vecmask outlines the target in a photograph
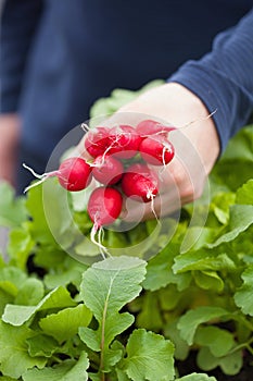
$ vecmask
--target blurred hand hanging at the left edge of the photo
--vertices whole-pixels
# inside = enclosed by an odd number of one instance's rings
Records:
[[[15,185],[16,156],[20,140],[20,119],[16,114],[0,115],[0,181]]]

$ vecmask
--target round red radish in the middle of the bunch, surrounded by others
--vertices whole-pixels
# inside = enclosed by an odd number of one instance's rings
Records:
[[[118,183],[124,172],[122,162],[111,155],[98,156],[92,167],[93,177],[104,185]]]

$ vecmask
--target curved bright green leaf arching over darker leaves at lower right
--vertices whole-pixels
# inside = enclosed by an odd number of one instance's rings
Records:
[[[212,319],[220,319],[228,314],[229,312],[226,309],[220,307],[201,306],[195,309],[188,310],[184,316],[181,316],[177,328],[180,331],[181,337],[186,340],[189,345],[192,345],[195,330],[200,324],[208,322]]]

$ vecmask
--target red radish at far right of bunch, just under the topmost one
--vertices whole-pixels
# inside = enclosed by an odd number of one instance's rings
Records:
[[[175,155],[172,143],[159,135],[146,137],[139,146],[139,151],[142,159],[152,165],[166,165]]]

